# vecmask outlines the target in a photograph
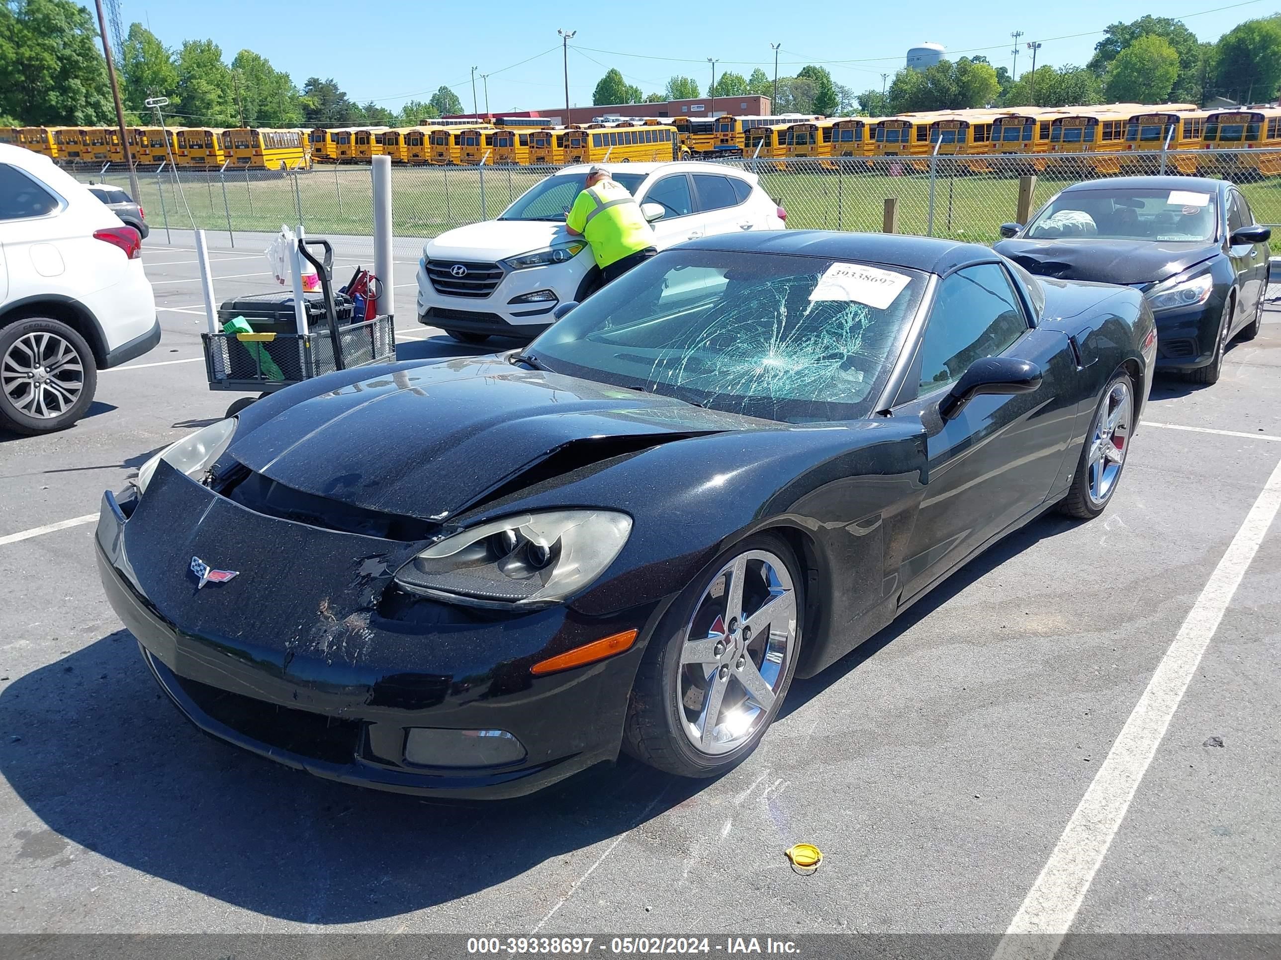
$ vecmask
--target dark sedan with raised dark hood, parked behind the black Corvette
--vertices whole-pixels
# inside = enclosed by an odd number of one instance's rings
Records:
[[[1004,224],[997,251],[1029,271],[1122,283],[1157,316],[1157,369],[1212,384],[1234,337],[1263,323],[1272,230],[1227,180],[1118,177],[1076,183],[1022,227]]]

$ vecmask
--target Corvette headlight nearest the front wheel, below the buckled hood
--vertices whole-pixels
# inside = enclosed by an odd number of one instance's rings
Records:
[[[557,509],[494,520],[441,540],[396,572],[404,589],[480,607],[564,600],[614,562],[632,517]]]

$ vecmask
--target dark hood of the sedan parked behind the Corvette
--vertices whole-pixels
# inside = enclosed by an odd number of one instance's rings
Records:
[[[1008,239],[997,244],[1031,274],[1059,280],[1100,280],[1126,287],[1159,283],[1218,251],[1214,243],[1114,239]]]

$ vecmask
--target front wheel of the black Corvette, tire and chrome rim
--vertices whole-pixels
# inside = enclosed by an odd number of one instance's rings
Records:
[[[690,584],[637,672],[624,748],[683,777],[742,763],[779,713],[796,673],[804,611],[787,541],[758,534]]]

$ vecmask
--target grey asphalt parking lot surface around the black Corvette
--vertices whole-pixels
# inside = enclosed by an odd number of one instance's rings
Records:
[[[74,429],[0,434],[0,929],[958,933],[989,952],[1016,918],[1281,932],[1281,308],[1217,385],[1158,379],[1099,520],[1048,515],[797,681],[729,776],[624,758],[439,805],[201,736],[108,605],[92,524],[38,532],[236,398],[205,383],[192,244],[163,239],[143,256],[160,346],[104,371]],[[272,288],[259,248],[211,253],[219,300]],[[469,352],[415,323],[397,251],[400,356]],[[339,250],[339,276],[357,260]],[[1146,759],[1113,750],[1127,722]],[[784,859],[802,841],[813,876]],[[1073,870],[1088,890],[1056,886]]]

